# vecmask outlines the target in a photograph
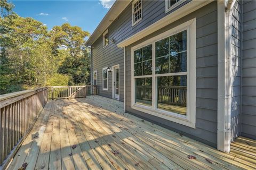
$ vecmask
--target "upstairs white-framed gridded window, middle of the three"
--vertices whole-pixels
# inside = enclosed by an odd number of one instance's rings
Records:
[[[132,25],[137,24],[142,19],[141,0],[133,1],[132,3]]]

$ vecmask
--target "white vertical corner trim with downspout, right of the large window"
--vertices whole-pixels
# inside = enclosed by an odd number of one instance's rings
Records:
[[[218,1],[218,130],[217,148],[230,151],[231,140],[231,10],[235,1],[225,7]]]

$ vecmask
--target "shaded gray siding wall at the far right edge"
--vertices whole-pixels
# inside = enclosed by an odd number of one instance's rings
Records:
[[[243,1],[242,135],[256,139],[256,1]]]

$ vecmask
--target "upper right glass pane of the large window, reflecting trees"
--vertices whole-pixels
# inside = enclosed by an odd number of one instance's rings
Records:
[[[156,74],[187,71],[187,31],[156,42]]]

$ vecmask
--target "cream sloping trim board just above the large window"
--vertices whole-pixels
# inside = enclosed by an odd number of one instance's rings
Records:
[[[147,28],[135,33],[133,36],[123,40],[121,43],[117,44],[117,47],[123,48],[125,46],[128,46],[135,41],[138,41],[139,39],[146,37],[150,35],[150,33],[153,33],[166,25],[169,25],[170,23],[177,21],[178,19],[182,18],[183,16],[188,15],[191,12],[194,12],[198,10],[199,8],[213,2],[212,0],[210,1],[191,1],[182,7],[180,7],[178,10],[166,15],[164,18],[161,20],[156,21],[155,23],[151,24]]]

